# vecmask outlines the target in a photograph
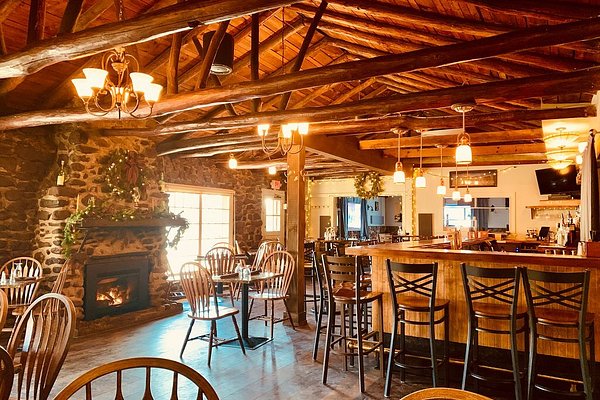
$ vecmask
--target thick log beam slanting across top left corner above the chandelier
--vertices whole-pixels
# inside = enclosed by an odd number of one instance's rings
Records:
[[[175,4],[127,21],[45,40],[24,51],[0,57],[0,78],[32,74],[49,65],[116,46],[140,43],[186,31],[198,24],[212,24],[291,3],[290,0],[211,0]]]

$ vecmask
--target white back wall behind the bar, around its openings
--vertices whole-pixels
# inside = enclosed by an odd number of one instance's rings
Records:
[[[535,178],[535,170],[547,168],[544,164],[500,166],[497,168],[476,167],[475,169],[497,169],[498,186],[493,188],[471,188],[473,197],[508,197],[510,199],[510,232],[524,235],[527,229],[539,229],[541,226],[554,227],[557,219],[555,217],[531,219],[531,212],[526,206],[540,204],[546,196],[540,196]],[[473,169],[473,168],[472,168]],[[459,168],[464,170],[464,168]],[[443,234],[443,201],[436,194],[436,186],[439,182],[439,169],[429,173],[425,171],[427,187],[416,189],[416,207],[418,213],[433,214],[434,234]],[[445,181],[448,184],[448,170],[445,169]],[[412,193],[411,180],[407,179],[405,184],[395,184],[391,176],[383,179],[384,191],[382,196],[402,196],[403,226],[405,231],[411,229],[412,221]],[[462,189],[464,194],[465,189]],[[449,197],[452,190],[448,189]],[[311,236],[318,234],[318,215],[332,215],[335,219],[336,205],[333,198],[337,196],[356,196],[353,179],[336,179],[316,181],[312,188],[312,221]],[[330,199],[329,202],[326,199]],[[323,204],[329,207],[323,207]],[[330,213],[330,214],[327,214]],[[316,218],[316,223],[315,223]],[[387,224],[386,224],[387,225]]]

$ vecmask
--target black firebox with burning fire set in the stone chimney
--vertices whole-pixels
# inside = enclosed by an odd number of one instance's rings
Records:
[[[84,318],[147,308],[149,272],[147,253],[91,257],[85,266]]]

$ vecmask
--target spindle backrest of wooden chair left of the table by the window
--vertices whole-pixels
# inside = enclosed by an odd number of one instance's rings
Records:
[[[181,266],[180,279],[192,315],[201,315],[208,312],[211,309],[211,300],[214,301],[213,310],[217,315],[219,314],[217,294],[208,269],[197,262],[187,262]]]

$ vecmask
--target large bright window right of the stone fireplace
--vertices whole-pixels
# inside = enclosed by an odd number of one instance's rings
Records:
[[[186,185],[167,185],[169,209],[187,219],[189,228],[177,248],[167,249],[174,271],[195,261],[217,243],[233,244],[233,191]],[[170,239],[175,234],[170,232]]]

